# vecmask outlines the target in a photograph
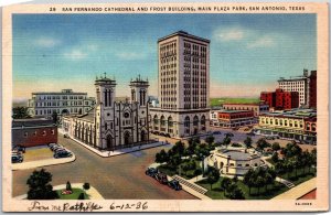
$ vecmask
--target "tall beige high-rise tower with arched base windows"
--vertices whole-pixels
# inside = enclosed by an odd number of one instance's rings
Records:
[[[159,39],[159,107],[152,131],[184,138],[209,127],[210,41],[179,31]]]

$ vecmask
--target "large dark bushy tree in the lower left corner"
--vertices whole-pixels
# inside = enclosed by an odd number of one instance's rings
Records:
[[[33,171],[26,181],[29,185],[28,200],[55,200],[58,195],[50,184],[52,174],[44,169]]]

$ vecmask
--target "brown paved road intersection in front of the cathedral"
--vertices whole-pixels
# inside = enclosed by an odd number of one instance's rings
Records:
[[[145,175],[162,148],[153,148],[111,158],[100,158],[78,143],[58,136],[58,142],[76,154],[73,163],[46,166],[52,185],[88,182],[107,200],[192,200],[184,191],[173,191]],[[170,147],[170,146],[168,146]],[[163,148],[167,148],[166,146]],[[33,170],[13,171],[13,196],[28,192],[26,180]]]

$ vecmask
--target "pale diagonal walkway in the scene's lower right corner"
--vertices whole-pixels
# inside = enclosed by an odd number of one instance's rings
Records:
[[[306,181],[271,200],[298,200],[317,187],[317,178]]]

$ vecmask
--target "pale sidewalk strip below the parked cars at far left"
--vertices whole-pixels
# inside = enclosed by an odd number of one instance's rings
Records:
[[[62,163],[70,163],[76,160],[75,154],[73,153],[73,157],[71,158],[62,158],[62,159],[45,159],[40,161],[29,161],[23,163],[12,163],[11,170],[28,170],[28,169],[34,169],[34,168],[42,168],[47,165],[57,165]]]

